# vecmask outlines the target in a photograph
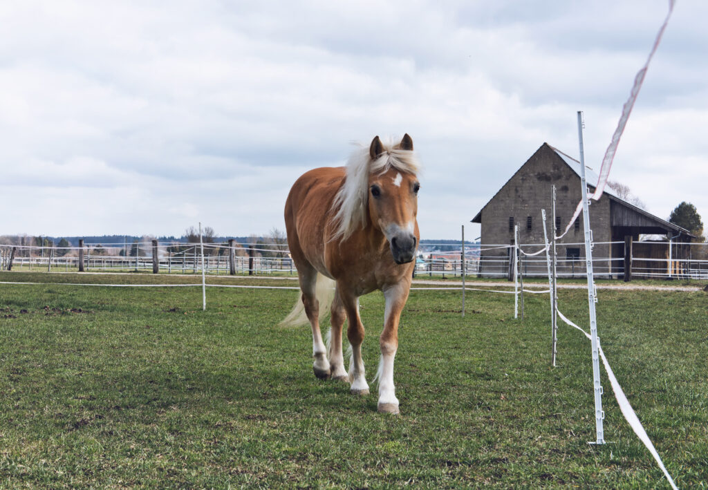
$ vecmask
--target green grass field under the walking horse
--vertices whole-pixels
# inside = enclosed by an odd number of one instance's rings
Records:
[[[0,273],[0,281],[180,283],[160,275]],[[215,281],[216,282],[216,281]],[[244,284],[244,279],[219,279]],[[257,280],[248,284],[283,281]],[[287,281],[287,285],[290,281]],[[682,488],[708,479],[706,292],[600,291],[603,349]],[[467,486],[668,488],[603,372],[595,438],[590,343],[547,295],[418,291],[401,318],[399,416],[312,375],[309,329],[281,329],[292,290],[0,285],[0,487]],[[583,290],[560,309],[588,324]],[[378,361],[383,298],[362,297]],[[372,392],[375,389],[372,387]]]

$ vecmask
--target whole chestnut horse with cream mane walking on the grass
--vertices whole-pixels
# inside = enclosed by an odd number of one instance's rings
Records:
[[[377,136],[368,149],[355,152],[346,167],[304,173],[285,202],[287,243],[297,267],[302,304],[297,302],[282,324],[309,321],[316,377],[347,381],[353,394],[369,394],[361,356],[364,326],[359,297],[382,290],[386,310],[375,379],[379,382],[378,411],[389,414],[399,413],[394,356],[420,239],[416,221],[419,167],[409,135],[395,145],[383,144]],[[325,299],[328,290],[333,290],[333,299]],[[329,301],[331,329],[325,348],[319,316]],[[352,349],[349,372],[342,354],[345,314]]]

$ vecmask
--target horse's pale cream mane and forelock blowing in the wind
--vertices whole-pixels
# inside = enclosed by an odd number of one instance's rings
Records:
[[[369,147],[359,145],[347,162],[344,183],[334,198],[332,210],[336,229],[332,239],[347,239],[358,228],[366,226],[369,198],[369,175],[396,169],[418,173],[421,164],[412,150],[397,148],[392,139],[383,143],[383,152],[372,159]]]

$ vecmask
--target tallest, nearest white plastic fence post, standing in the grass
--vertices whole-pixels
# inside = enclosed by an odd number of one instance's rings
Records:
[[[585,152],[583,150],[583,113],[578,110],[578,139],[580,140],[580,169],[581,186],[583,191],[583,224],[585,227],[585,258],[586,269],[588,271],[588,305],[590,307],[590,336],[593,345],[593,388],[595,392],[595,433],[597,440],[590,444],[605,444],[603,433],[603,385],[600,384],[600,355],[598,346],[598,322],[595,318],[595,302],[598,298],[595,295],[595,280],[593,278],[593,237],[590,231],[590,212],[588,210],[588,183],[585,178]]]

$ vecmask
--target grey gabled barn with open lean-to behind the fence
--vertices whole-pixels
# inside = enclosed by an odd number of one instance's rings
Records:
[[[472,219],[481,224],[482,276],[506,275],[510,252],[495,246],[514,243],[514,226],[519,225],[520,244],[543,244],[541,210],[551,221],[552,186],[556,187],[556,234],[560,234],[581,202],[580,162],[559,149],[544,143],[525,164],[493,195]],[[597,183],[597,174],[586,166],[590,191]],[[584,271],[583,216],[578,217],[569,232],[558,242],[559,275],[582,275]],[[550,224],[549,224],[550,226]],[[598,277],[624,276],[625,251],[633,256],[634,270],[666,273],[672,259],[683,258],[686,247],[670,247],[666,241],[649,245],[639,242],[640,235],[663,235],[674,242],[693,238],[686,229],[642,210],[605,188],[598,201],[591,201],[590,228],[593,230],[593,270]],[[550,237],[549,237],[550,239]],[[661,260],[659,260],[661,259]],[[665,260],[666,259],[666,260]],[[641,267],[640,267],[641,266]],[[539,265],[540,269],[540,265]],[[539,275],[545,273],[536,270]],[[523,269],[528,275],[533,271]]]

